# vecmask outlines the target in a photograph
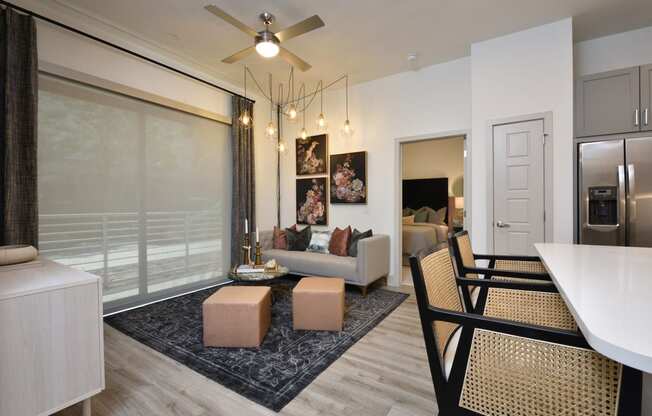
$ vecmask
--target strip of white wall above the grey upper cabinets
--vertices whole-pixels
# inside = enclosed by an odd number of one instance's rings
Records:
[[[652,64],[652,26],[575,44],[575,75]]]

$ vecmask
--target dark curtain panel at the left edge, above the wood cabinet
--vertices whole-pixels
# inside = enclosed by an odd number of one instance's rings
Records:
[[[0,9],[0,245],[38,247],[34,18]]]

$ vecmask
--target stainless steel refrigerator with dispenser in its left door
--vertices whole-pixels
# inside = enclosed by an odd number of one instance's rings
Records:
[[[652,247],[652,137],[579,145],[581,244]]]

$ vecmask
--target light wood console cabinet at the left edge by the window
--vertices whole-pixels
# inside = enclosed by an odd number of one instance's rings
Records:
[[[0,415],[50,415],[104,389],[100,278],[38,260],[0,267]]]

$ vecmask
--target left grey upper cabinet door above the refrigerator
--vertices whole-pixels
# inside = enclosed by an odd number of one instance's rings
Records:
[[[578,137],[639,131],[639,67],[578,79],[575,111]]]

